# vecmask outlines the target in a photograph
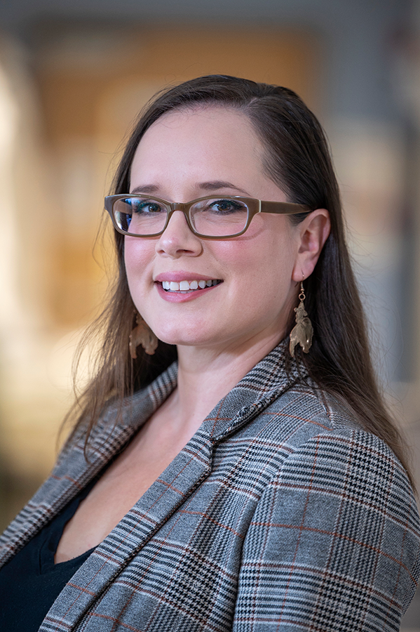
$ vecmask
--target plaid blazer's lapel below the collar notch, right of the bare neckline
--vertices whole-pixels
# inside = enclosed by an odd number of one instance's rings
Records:
[[[39,632],[68,632],[123,567],[211,471],[212,441],[194,435],[121,522],[91,553],[50,608]]]

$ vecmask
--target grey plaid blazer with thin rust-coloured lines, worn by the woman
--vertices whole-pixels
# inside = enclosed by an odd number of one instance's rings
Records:
[[[419,515],[394,454],[283,368],[275,348],[50,608],[43,632],[397,631],[419,578]],[[176,367],[65,449],[1,538],[18,551],[168,397]]]

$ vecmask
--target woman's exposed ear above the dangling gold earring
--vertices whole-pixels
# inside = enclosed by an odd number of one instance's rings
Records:
[[[293,281],[300,282],[302,277],[307,279],[316,266],[318,257],[328,235],[330,235],[330,213],[325,209],[312,211],[299,225],[299,249],[292,271]]]

